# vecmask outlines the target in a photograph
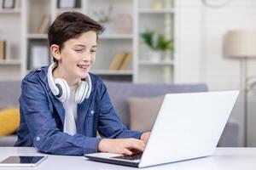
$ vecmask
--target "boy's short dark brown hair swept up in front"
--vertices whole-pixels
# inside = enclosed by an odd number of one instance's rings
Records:
[[[48,43],[49,47],[56,44],[61,48],[64,47],[64,42],[67,40],[79,37],[87,31],[95,31],[97,38],[102,33],[104,28],[95,20],[90,19],[85,14],[78,12],[65,12],[60,14],[54,22],[49,26]],[[57,62],[53,58],[54,62]]]

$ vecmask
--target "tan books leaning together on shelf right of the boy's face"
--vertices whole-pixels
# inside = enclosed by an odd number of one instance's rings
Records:
[[[132,54],[130,51],[122,51],[113,56],[109,65],[110,71],[125,70],[131,63]]]

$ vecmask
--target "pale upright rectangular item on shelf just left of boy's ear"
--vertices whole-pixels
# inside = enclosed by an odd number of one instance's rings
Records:
[[[49,65],[49,48],[44,45],[33,45],[31,49],[30,69]]]

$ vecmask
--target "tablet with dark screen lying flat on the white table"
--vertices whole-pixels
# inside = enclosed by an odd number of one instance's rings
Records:
[[[46,156],[9,156],[5,160],[0,162],[1,165],[36,165],[39,161],[42,161]]]

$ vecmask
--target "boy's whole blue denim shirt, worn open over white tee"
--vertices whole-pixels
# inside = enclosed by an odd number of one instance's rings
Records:
[[[47,70],[42,67],[31,71],[22,80],[15,146],[34,146],[51,154],[83,155],[97,152],[102,138],[140,138],[142,133],[128,130],[120,122],[105,84],[93,74],[90,98],[78,105],[77,133],[63,133],[65,110],[49,89]],[[102,138],[96,138],[96,131]]]

